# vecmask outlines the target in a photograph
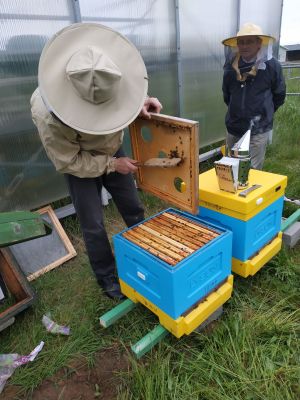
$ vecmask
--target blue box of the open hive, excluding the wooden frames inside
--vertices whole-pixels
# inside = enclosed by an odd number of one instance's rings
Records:
[[[171,318],[177,319],[230,275],[232,233],[172,208],[159,214],[166,211],[191,222],[200,222],[220,235],[175,266],[124,238],[122,233],[128,229],[115,235],[113,241],[119,277]]]

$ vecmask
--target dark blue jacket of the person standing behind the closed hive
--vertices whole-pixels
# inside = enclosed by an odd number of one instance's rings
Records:
[[[240,65],[241,72],[245,65]],[[284,103],[286,94],[282,68],[275,58],[266,61],[266,69],[259,69],[255,77],[248,76],[245,82],[239,82],[231,64],[225,64],[222,90],[228,106],[225,124],[235,136],[242,136],[254,117],[258,118],[252,134],[272,129],[274,112]]]

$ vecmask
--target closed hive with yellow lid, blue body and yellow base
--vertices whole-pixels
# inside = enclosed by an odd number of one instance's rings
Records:
[[[199,215],[233,232],[232,270],[254,275],[281,248],[281,215],[287,178],[251,170],[246,197],[219,189],[215,170],[199,176]]]

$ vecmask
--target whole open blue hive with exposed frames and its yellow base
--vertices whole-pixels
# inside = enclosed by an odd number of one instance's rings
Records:
[[[181,319],[209,295],[216,303],[204,317],[231,295],[232,233],[189,213],[167,209],[115,235],[114,246],[122,292],[148,306],[177,337],[197,327],[202,309],[191,324]]]

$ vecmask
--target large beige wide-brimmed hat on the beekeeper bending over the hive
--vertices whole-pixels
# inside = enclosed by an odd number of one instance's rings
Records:
[[[95,23],[70,25],[47,42],[38,81],[51,112],[66,125],[95,135],[130,124],[148,90],[146,67],[136,47]]]

